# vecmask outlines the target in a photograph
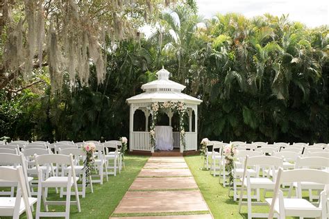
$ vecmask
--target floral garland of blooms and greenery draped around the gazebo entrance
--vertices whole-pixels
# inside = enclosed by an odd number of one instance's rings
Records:
[[[185,103],[181,102],[165,102],[165,103],[152,103],[151,110],[153,112],[152,114],[152,124],[150,128],[150,141],[151,141],[151,147],[155,147],[155,125],[158,122],[158,114],[159,111],[162,110],[164,112],[168,111],[174,111],[178,112],[180,119],[179,119],[179,126],[180,126],[180,144],[183,145],[184,150],[186,148],[186,142],[185,142],[185,129],[184,129],[184,115],[186,113],[186,105]]]

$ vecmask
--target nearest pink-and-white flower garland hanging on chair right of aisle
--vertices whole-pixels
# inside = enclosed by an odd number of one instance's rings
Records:
[[[223,148],[223,155],[225,159],[225,170],[228,171],[228,182],[230,187],[233,187],[234,170],[235,170],[234,159],[237,153],[238,150],[237,148],[235,148],[235,146],[233,146],[233,143],[230,143]]]

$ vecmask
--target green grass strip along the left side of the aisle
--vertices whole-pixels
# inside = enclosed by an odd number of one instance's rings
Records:
[[[86,197],[80,197],[81,213],[78,213],[76,206],[71,205],[70,218],[109,218],[148,158],[145,156],[125,156],[126,169],[122,170],[121,174],[116,177],[111,175],[108,182],[104,179],[103,185],[93,184],[94,193],[91,193],[90,187],[87,187]],[[54,193],[54,190],[51,190],[49,200],[58,200],[57,197],[59,196]],[[74,199],[73,196],[72,199]],[[64,206],[49,206],[49,211],[64,210]],[[22,218],[26,218],[26,216]]]

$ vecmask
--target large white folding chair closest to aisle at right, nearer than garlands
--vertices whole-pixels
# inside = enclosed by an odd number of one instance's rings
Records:
[[[246,204],[248,208],[248,219],[251,218],[267,218],[268,213],[253,213],[251,206],[252,205],[266,205],[264,202],[252,202],[251,199],[251,190],[256,189],[259,193],[260,189],[274,190],[274,186],[276,184],[276,175],[273,174],[273,179],[270,179],[269,175],[267,177],[260,177],[260,175],[256,175],[256,177],[251,177],[251,173],[248,172],[248,167],[255,168],[256,173],[258,173],[258,169],[260,166],[268,166],[269,169],[272,170],[273,173],[276,173],[276,169],[282,167],[283,159],[278,157],[271,156],[255,156],[248,157],[244,161],[244,174],[242,176],[242,186],[239,197],[239,213],[241,213],[242,204]],[[246,187],[247,191],[247,202],[242,202],[242,198],[244,195],[244,187]]]

